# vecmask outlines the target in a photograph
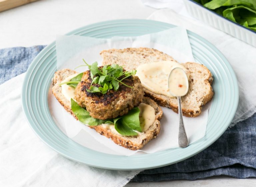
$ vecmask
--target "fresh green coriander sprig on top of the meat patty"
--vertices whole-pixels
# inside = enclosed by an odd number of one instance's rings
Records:
[[[132,75],[135,75],[136,70],[130,72],[124,71],[123,67],[119,66],[118,64],[98,67],[98,62],[94,62],[92,65],[89,65],[84,59],[83,61],[85,62],[85,65],[82,66],[88,66],[89,70],[91,71],[92,78],[91,87],[90,89],[87,89],[87,92],[99,92],[105,94],[111,89],[117,91],[119,88],[119,83],[132,88],[132,86],[129,86],[122,81]],[[99,84],[100,86],[96,87],[93,86],[93,84]]]

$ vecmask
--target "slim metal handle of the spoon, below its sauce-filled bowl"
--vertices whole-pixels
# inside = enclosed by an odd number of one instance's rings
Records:
[[[179,127],[178,127],[178,145],[179,147],[185,148],[188,146],[188,138],[183,124],[182,110],[181,110],[181,97],[178,96],[179,106]]]

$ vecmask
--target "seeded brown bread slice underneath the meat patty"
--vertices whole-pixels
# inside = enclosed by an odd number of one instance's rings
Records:
[[[71,110],[70,101],[68,101],[64,97],[64,95],[61,93],[61,86],[59,86],[62,80],[64,80],[65,78],[75,73],[77,72],[70,69],[62,69],[62,70],[56,71],[52,81],[52,83],[54,84],[52,88],[52,93],[56,97],[56,99],[59,101],[59,103],[66,109],[66,111],[69,112],[71,115],[73,115],[76,120],[78,120],[77,117],[74,115],[73,111]],[[157,135],[159,134],[160,132],[159,120],[162,118],[162,115],[163,115],[162,109],[152,99],[148,97],[144,97],[142,103],[148,104],[155,109],[156,119],[154,123],[145,132],[140,133],[136,137],[120,135],[116,131],[108,129],[107,126],[103,124],[97,125],[97,126],[89,126],[89,127],[92,129],[95,129],[101,135],[104,135],[105,137],[110,138],[116,144],[121,145],[125,148],[129,148],[131,150],[141,149],[147,142],[156,138]]]

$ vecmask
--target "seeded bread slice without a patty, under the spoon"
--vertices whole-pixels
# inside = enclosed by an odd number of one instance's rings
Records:
[[[171,56],[151,48],[126,48],[109,49],[101,51],[103,65],[116,63],[122,65],[127,71],[136,69],[145,63],[159,62],[164,60],[175,61]],[[211,72],[202,64],[187,62],[182,64],[190,71],[188,93],[181,98],[182,113],[187,117],[199,116],[202,106],[213,97]],[[178,102],[161,94],[155,94],[144,88],[145,96],[150,97],[159,105],[171,108],[178,113]]]

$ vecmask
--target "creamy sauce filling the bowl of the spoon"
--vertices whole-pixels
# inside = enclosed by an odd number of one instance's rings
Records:
[[[169,89],[173,96],[184,96],[188,92],[188,79],[181,68],[172,70],[169,76]]]

